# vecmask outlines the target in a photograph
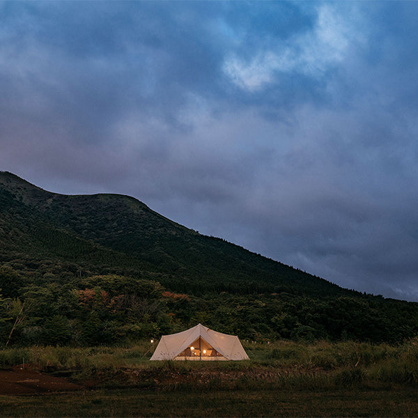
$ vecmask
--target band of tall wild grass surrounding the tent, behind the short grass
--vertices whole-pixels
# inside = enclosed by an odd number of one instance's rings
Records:
[[[31,364],[42,371],[107,376],[124,385],[165,389],[310,389],[418,385],[418,339],[398,346],[342,341],[243,343],[250,361],[149,362],[155,346],[69,348],[33,346],[0,350],[0,368]],[[159,383],[155,383],[159,382]]]

